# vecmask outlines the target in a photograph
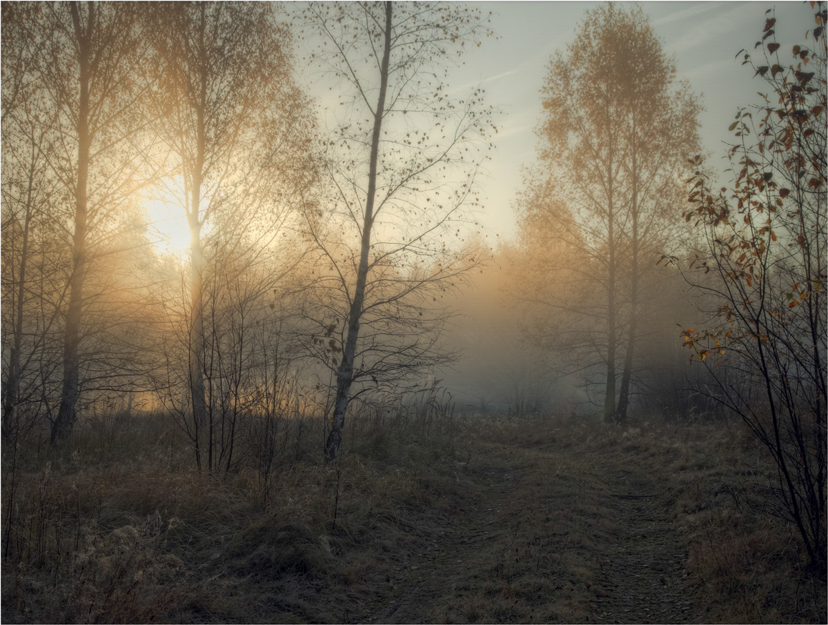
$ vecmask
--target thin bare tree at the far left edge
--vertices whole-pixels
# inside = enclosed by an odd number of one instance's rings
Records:
[[[21,10],[21,8],[23,10]],[[31,5],[17,7],[10,22],[3,22],[4,75],[12,88],[3,90],[2,125],[2,431],[13,442],[21,430],[18,406],[34,408],[27,418],[36,425],[43,415],[43,401],[50,397],[54,352],[60,329],[60,306],[66,293],[61,271],[60,233],[55,228],[54,177],[49,175],[46,155],[52,147],[49,108],[44,106],[40,85],[31,75],[31,41],[17,20],[31,17]],[[5,7],[4,7],[5,11]],[[6,38],[9,31],[14,36]],[[22,44],[24,50],[12,47]],[[8,47],[7,47],[8,46]],[[26,49],[27,48],[27,49]],[[12,68],[5,61],[13,60]],[[8,70],[8,71],[6,71]],[[22,73],[18,75],[17,73]],[[28,429],[28,428],[26,428]]]

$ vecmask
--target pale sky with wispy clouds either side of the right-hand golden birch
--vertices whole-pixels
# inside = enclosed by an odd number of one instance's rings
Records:
[[[513,200],[522,184],[522,166],[535,159],[534,128],[542,114],[540,89],[551,56],[565,50],[585,12],[598,2],[472,2],[493,12],[491,27],[498,40],[465,55],[454,70],[452,85],[482,84],[489,103],[501,109],[496,151],[483,180],[486,207],[480,219],[490,232],[510,237],[516,232]],[[739,106],[758,101],[761,81],[741,65],[741,49],[753,52],[762,35],[765,11],[776,7],[777,41],[783,50],[802,43],[812,26],[811,8],[802,2],[639,2],[650,18],[664,50],[674,55],[680,79],[702,96],[701,139],[716,167],[723,169],[723,140]],[[811,26],[807,26],[807,25]],[[756,50],[757,53],[760,50]],[[722,180],[725,182],[726,180]]]

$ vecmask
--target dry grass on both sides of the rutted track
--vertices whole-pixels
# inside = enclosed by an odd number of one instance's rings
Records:
[[[195,470],[187,440],[163,414],[84,422],[60,449],[36,436],[4,446],[2,618],[364,621],[372,615],[359,606],[383,603],[383,580],[398,579],[426,544],[442,540],[460,507],[488,496],[475,471],[480,458],[498,454],[504,467],[522,466],[531,492],[550,502],[593,488],[594,477],[571,469],[590,457],[659,479],[686,545],[687,579],[710,620],[824,619],[825,580],[807,575],[796,536],[763,513],[772,467],[740,425],[653,418],[618,428],[562,415],[460,417],[445,399],[433,393],[360,406],[340,458],[327,468],[325,420],[310,416],[249,416],[238,434],[243,453],[220,474]],[[566,484],[575,490],[556,490]],[[548,525],[540,503],[521,508],[537,508],[538,523]],[[522,513],[507,512],[514,523],[509,515]],[[555,516],[559,534],[566,518]],[[611,523],[600,515],[594,521],[598,529]],[[600,554],[588,553],[593,547],[578,531],[575,524],[566,532],[575,536],[566,547],[575,560],[535,546],[526,562],[546,561],[543,553],[559,569],[586,575],[578,562]],[[480,602],[503,594],[492,584],[504,575],[535,584],[532,575],[541,573],[524,570],[526,562],[508,560],[506,570],[506,560],[493,561],[490,579],[469,579],[462,618],[498,614]],[[582,591],[573,586],[571,605],[549,614],[587,615]]]

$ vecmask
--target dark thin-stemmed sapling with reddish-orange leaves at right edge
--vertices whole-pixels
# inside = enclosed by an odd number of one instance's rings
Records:
[[[811,6],[814,6],[812,3]],[[768,89],[730,131],[730,189],[710,189],[691,160],[686,219],[704,235],[688,278],[715,301],[706,329],[683,332],[710,369],[717,399],[741,416],[773,457],[782,513],[811,565],[826,570],[826,9],[816,2],[809,46],[782,60],[768,17],[763,58],[743,65]],[[744,51],[744,50],[743,50]],[[755,138],[753,138],[755,137]],[[725,375],[729,373],[729,375]],[[736,373],[736,375],[734,375]]]

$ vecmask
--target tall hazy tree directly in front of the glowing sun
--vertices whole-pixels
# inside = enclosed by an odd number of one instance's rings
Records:
[[[243,242],[267,248],[281,233],[289,209],[313,183],[313,120],[292,78],[291,42],[272,5],[171,2],[156,10],[153,23],[161,84],[156,108],[164,116],[161,134],[178,159],[178,175],[162,195],[181,205],[190,227],[186,427],[196,463],[213,470],[223,454],[214,455],[218,424],[205,387],[209,261],[229,260]],[[267,226],[252,241],[259,219]]]

